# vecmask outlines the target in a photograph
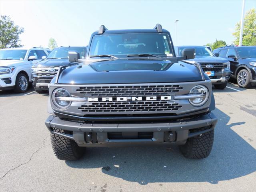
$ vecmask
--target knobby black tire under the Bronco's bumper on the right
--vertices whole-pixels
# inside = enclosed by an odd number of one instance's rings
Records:
[[[206,128],[208,127],[191,130],[190,132],[198,132]],[[179,148],[186,158],[202,159],[209,156],[212,150],[213,140],[214,130],[196,137],[188,138],[186,144],[179,146]]]

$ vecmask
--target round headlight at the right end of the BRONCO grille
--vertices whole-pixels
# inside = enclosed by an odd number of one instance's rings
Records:
[[[193,106],[199,107],[205,104],[208,100],[209,91],[205,86],[198,85],[190,90],[189,95],[195,95],[195,98],[190,98],[188,100]]]

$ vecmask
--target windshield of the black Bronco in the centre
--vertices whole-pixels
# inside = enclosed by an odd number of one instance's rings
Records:
[[[170,38],[165,33],[126,33],[95,35],[90,46],[90,56],[155,54],[173,56]]]

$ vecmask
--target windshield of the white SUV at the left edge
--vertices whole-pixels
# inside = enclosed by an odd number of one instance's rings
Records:
[[[26,49],[10,49],[10,50],[0,50],[0,59],[1,60],[9,60],[9,59],[17,59],[23,60],[25,58],[27,50]]]

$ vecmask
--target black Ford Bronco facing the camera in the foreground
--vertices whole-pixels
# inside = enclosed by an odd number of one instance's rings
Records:
[[[153,29],[107,30],[90,38],[86,58],[69,52],[49,85],[46,126],[60,160],[84,147],[178,144],[187,158],[206,158],[217,118],[212,83],[186,48],[176,57],[172,38]]]

